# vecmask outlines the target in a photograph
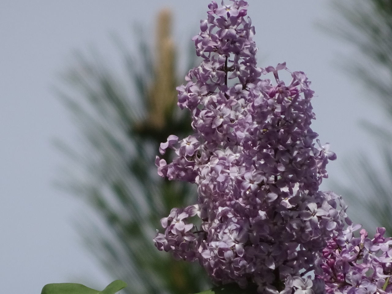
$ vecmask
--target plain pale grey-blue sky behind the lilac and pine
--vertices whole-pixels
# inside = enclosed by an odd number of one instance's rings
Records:
[[[353,0],[352,0],[353,1]],[[342,158],[366,149],[369,135],[358,126],[381,116],[365,103],[361,85],[339,67],[339,54],[355,49],[330,38],[316,23],[332,24],[330,0],[249,0],[260,66],[287,62],[304,71],[316,91],[314,131],[332,143],[338,161],[328,166],[343,178]],[[0,6],[0,285],[2,293],[40,293],[46,283],[111,282],[80,242],[73,221],[85,211],[53,187],[64,157],[54,138],[71,141],[76,129],[51,88],[73,62],[75,49],[98,49],[105,61],[117,56],[110,34],[133,48],[132,24],[147,32],[163,6],[173,10],[176,41],[198,33],[208,0],[13,0]],[[146,36],[149,38],[150,36]],[[114,62],[114,68],[119,65]],[[158,152],[158,151],[157,151]],[[328,182],[323,183],[324,189]],[[159,227],[159,224],[157,224]]]

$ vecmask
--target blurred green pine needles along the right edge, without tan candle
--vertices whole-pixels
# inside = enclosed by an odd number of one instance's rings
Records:
[[[362,122],[374,142],[363,142],[367,151],[356,151],[346,160],[350,180],[338,183],[337,190],[347,199],[354,220],[373,233],[371,225],[386,227],[392,236],[392,1],[358,0],[353,5],[335,0],[333,9],[338,21],[329,32],[359,53],[359,58],[350,56],[343,64],[363,85],[367,100],[358,103],[376,104],[385,113],[379,125]]]

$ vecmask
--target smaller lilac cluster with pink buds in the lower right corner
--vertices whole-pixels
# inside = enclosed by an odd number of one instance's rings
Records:
[[[317,267],[327,293],[382,294],[392,292],[392,244],[385,228],[377,228],[373,239],[360,225],[351,225],[328,241]]]

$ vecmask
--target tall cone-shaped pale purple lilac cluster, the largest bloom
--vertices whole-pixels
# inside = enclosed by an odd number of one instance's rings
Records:
[[[177,88],[194,134],[169,136],[160,153],[171,148],[176,156],[169,163],[157,156],[156,165],[160,176],[196,183],[198,202],[173,208],[154,241],[200,262],[216,282],[311,294],[315,285],[305,276],[347,218],[340,196],[318,191],[336,155],[314,143],[314,92],[305,74],[285,63],[256,66],[247,6],[212,2],[194,37],[203,61]],[[291,74],[287,84],[283,70]]]

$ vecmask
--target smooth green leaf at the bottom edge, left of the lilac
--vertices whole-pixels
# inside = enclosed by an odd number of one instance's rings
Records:
[[[102,291],[91,289],[82,284],[55,283],[45,285],[41,294],[114,294],[125,287],[127,284],[120,280],[113,281]]]

